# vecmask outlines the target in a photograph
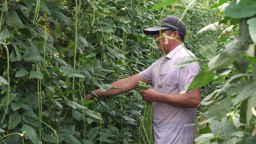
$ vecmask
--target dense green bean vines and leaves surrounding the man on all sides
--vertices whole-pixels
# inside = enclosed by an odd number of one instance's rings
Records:
[[[137,90],[94,100],[85,94],[111,89],[162,56],[142,29],[175,15],[202,66],[190,88],[207,84],[202,96],[210,94],[196,142],[253,143],[255,0],[233,0],[224,14],[214,8],[226,1],[171,0],[158,10],[156,0],[1,1],[1,142],[138,143],[144,103]],[[216,32],[201,33],[215,21]]]

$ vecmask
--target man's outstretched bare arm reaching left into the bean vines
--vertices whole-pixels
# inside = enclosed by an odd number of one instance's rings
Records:
[[[135,74],[131,77],[119,79],[116,82],[110,84],[112,87],[118,89],[109,89],[105,92],[100,92],[100,89],[96,89],[93,92],[95,92],[97,96],[115,96],[137,88],[139,85],[139,81],[145,82],[148,85],[151,84],[150,80],[147,80],[139,74]],[[91,100],[91,98],[91,95],[86,96],[86,100]]]

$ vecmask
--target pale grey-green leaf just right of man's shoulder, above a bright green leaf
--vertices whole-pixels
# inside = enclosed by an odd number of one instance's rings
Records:
[[[208,60],[211,60],[214,56],[216,56],[217,51],[217,42],[213,42],[211,44],[207,44],[201,48],[199,48],[199,53],[207,58]]]

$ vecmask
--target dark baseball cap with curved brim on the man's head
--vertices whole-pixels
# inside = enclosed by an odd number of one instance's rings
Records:
[[[180,35],[184,37],[186,36],[186,25],[178,17],[175,17],[175,16],[165,17],[161,21],[161,28],[159,24],[152,28],[144,29],[143,33],[146,35],[157,35],[159,33],[159,30],[161,29],[161,30],[178,31]]]

